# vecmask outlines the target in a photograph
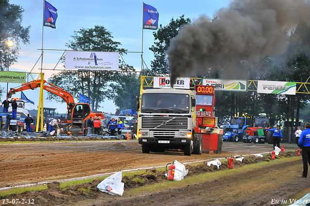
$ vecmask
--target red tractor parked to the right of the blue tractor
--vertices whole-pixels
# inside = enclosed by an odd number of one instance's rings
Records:
[[[246,135],[243,136],[244,143],[273,143],[272,132],[264,129],[265,127],[271,128],[269,118],[257,117],[254,121],[254,127],[248,127]]]

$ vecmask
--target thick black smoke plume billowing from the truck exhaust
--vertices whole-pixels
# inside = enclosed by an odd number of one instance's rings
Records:
[[[288,33],[298,22],[310,22],[310,0],[233,0],[215,16],[200,16],[171,40],[171,82],[210,71],[240,78],[240,61],[284,53]]]

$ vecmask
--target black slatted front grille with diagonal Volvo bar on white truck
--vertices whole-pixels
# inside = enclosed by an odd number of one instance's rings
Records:
[[[142,117],[143,129],[187,129],[187,117]]]

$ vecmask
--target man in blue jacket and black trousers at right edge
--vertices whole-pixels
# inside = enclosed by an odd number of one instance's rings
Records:
[[[302,163],[304,165],[304,172],[300,177],[307,177],[308,163],[310,164],[310,123],[305,124],[305,130],[301,132],[299,137],[298,146],[302,149]]]

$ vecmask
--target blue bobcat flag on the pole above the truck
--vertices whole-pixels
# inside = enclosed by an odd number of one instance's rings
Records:
[[[156,30],[158,28],[159,13],[148,4],[143,3],[143,29]]]

